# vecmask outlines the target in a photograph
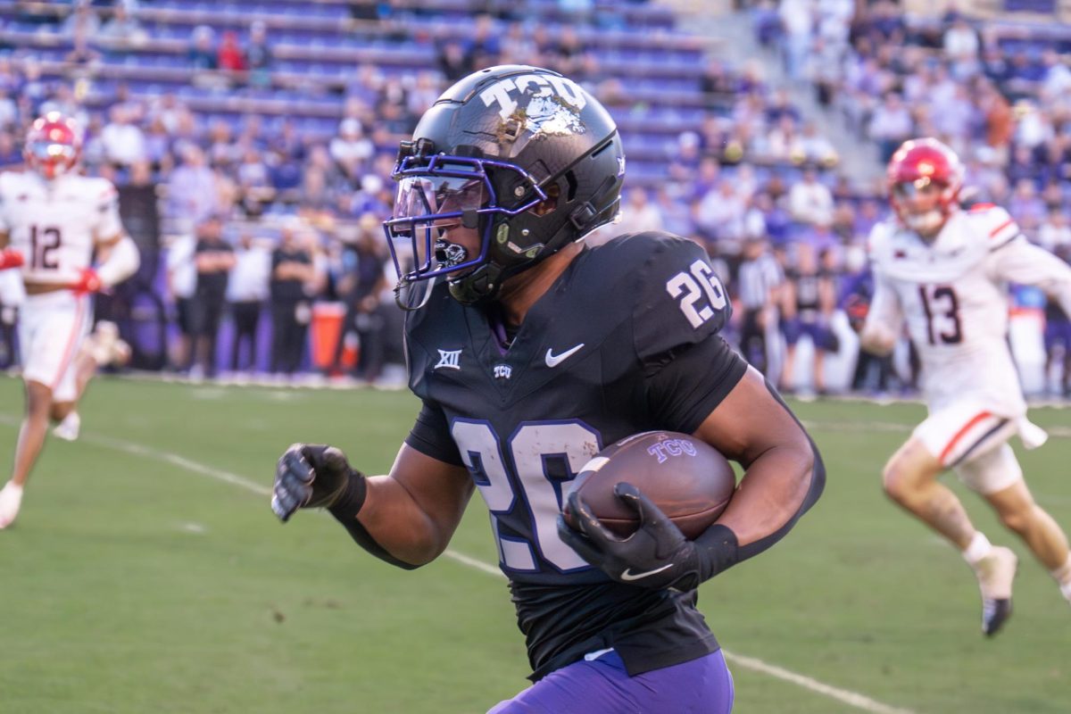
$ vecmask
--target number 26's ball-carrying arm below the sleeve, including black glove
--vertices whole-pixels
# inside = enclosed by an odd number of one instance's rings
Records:
[[[720,337],[715,339],[724,345]],[[703,350],[690,351],[698,352],[695,361],[709,356]],[[733,381],[738,374],[730,368],[723,370],[722,377]],[[559,518],[561,540],[619,581],[649,589],[691,590],[770,548],[821,495],[826,471],[818,450],[753,367],[736,380],[694,434],[745,468],[728,507],[698,537],[687,540],[639,489],[618,484],[618,498],[639,518],[634,534],[615,536],[574,492],[570,508],[578,530]],[[625,580],[630,573],[644,576]]]

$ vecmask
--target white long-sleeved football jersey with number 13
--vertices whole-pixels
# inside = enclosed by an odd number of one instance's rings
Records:
[[[1008,347],[1008,283],[1051,294],[1071,290],[1071,267],[1031,245],[1001,208],[956,211],[932,243],[896,221],[870,239],[875,294],[870,320],[907,332],[922,362],[931,410],[979,398],[996,412],[1026,412]]]

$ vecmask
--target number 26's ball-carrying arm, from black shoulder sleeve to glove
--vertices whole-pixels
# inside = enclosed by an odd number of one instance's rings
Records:
[[[696,325],[694,319],[680,317],[689,316],[687,300],[680,313],[672,303],[666,309],[660,302],[658,288],[667,276],[667,285],[676,286],[680,274],[674,275],[674,269],[690,259],[672,256],[639,292],[643,313],[634,317],[633,330],[637,354],[649,370],[644,411],[652,428],[692,432],[739,461],[746,471],[736,495],[718,522],[694,541],[685,540],[654,503],[628,484],[619,485],[617,495],[639,518],[632,536],[614,536],[575,493],[570,507],[579,531],[563,518],[558,521],[561,540],[587,562],[618,580],[630,569],[642,572],[642,579],[628,581],[652,589],[692,589],[763,552],[791,529],[825,485],[821,458],[803,427],[761,375],[716,334],[727,314],[711,310],[711,317]],[[670,289],[668,294],[680,293]],[[655,306],[663,308],[657,317]]]

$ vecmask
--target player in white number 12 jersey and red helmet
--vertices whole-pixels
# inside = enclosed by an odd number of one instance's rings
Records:
[[[62,422],[78,398],[75,356],[92,324],[89,295],[138,268],[137,247],[119,221],[115,186],[76,171],[80,147],[78,126],[50,112],[27,134],[31,170],[0,174],[0,255],[21,269],[27,293],[18,339],[26,416],[11,480],[0,490],[0,529],[18,515],[49,420]]]

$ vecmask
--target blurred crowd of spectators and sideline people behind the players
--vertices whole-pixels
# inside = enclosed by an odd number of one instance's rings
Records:
[[[627,91],[627,72],[605,66],[585,45],[577,29],[605,27],[606,15],[591,3],[563,4],[576,22],[554,32],[496,5],[463,39],[429,39],[437,66],[401,78],[359,64],[332,90],[342,94],[342,116],[327,134],[285,115],[236,120],[198,112],[166,89],[146,95],[122,80],[57,79],[31,52],[16,49],[0,55],[0,165],[19,164],[28,123],[57,109],[87,127],[87,171],[160,196],[169,244],[162,259],[166,302],[181,335],[172,368],[212,375],[316,367],[375,380],[399,359],[393,268],[379,229],[393,201],[398,138],[450,82],[476,67],[549,66],[584,83],[616,116],[649,121],[664,110],[658,116],[684,126],[657,147],[663,174],[628,184],[620,223],[594,240],[663,229],[702,243],[739,305],[731,336],[748,356],[791,389],[795,345],[805,338],[815,355],[806,383],[832,389],[821,359],[849,349],[853,309],[869,297],[864,245],[887,215],[881,187],[839,174],[828,136],[765,79],[760,60],[736,64],[709,56],[696,87],[700,115],[681,121],[683,109],[676,116],[673,107],[637,98]],[[102,37],[151,40],[132,15],[138,3],[74,5],[65,17],[40,17],[73,39],[70,62],[96,61]],[[350,10],[362,20],[384,19],[382,3]],[[860,139],[881,147],[884,158],[910,136],[941,138],[967,162],[974,200],[1006,206],[1031,239],[1067,253],[1071,128],[1064,118],[1071,71],[1054,50],[1025,62],[1022,52],[1006,51],[998,33],[979,31],[955,12],[912,27],[888,0],[763,1],[750,12],[759,42],[783,58],[788,76],[810,82],[818,102],[845,117]],[[191,82],[221,96],[268,91],[271,32],[260,20],[242,33],[193,28]],[[627,150],[630,131],[624,122]],[[344,334],[326,350],[330,358],[302,354],[313,308],[325,302],[343,304]],[[258,341],[261,310],[275,337]],[[233,336],[225,345],[217,345],[221,325]],[[362,355],[356,364],[345,356],[355,345]],[[853,355],[848,364],[856,363]],[[905,370],[891,364],[865,356],[858,364],[847,385],[911,386],[910,370],[897,380]]]

